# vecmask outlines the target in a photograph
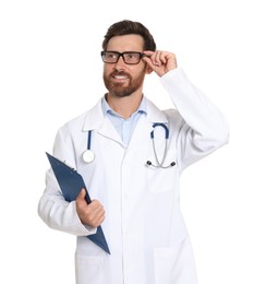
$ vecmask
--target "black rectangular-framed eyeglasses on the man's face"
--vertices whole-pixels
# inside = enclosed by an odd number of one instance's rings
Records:
[[[122,57],[124,63],[126,64],[138,64],[141,59],[145,56],[142,52],[135,51],[126,51],[126,52],[118,52],[118,51],[101,51],[101,59],[105,63],[117,63],[119,58]]]

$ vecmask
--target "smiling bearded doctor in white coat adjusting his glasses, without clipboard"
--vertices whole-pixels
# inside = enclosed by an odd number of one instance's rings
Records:
[[[77,236],[77,284],[196,284],[180,175],[227,143],[227,122],[174,54],[156,50],[141,23],[111,25],[101,59],[107,94],[61,127],[53,147],[83,176],[93,202],[86,204],[84,190],[66,202],[49,169],[38,214],[51,228]],[[160,110],[144,96],[152,72],[176,109]],[[111,255],[86,237],[99,225]]]

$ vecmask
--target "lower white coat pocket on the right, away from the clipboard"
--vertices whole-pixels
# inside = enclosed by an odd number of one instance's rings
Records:
[[[171,248],[156,248],[154,252],[156,284],[197,284],[190,239]]]

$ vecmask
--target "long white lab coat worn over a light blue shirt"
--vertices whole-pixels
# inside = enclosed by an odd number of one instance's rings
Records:
[[[64,201],[55,176],[47,171],[47,186],[38,213],[48,226],[77,236],[77,284],[196,284],[193,251],[181,212],[179,179],[182,170],[228,141],[228,126],[220,111],[186,79],[182,69],[165,74],[161,83],[177,109],[159,110],[147,100],[147,116],[138,120],[124,146],[112,123],[102,115],[101,103],[65,123],[55,142],[53,154],[84,177],[92,199],[106,211],[102,223],[111,255],[86,235],[75,201]],[[150,131],[164,122],[170,131],[165,165],[156,164]],[[86,164],[88,130],[95,161]],[[156,152],[164,156],[165,131],[155,130]]]

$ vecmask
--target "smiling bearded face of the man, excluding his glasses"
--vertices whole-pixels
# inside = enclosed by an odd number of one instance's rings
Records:
[[[114,36],[109,40],[107,51],[143,52],[143,46],[144,42],[140,35]],[[142,93],[146,68],[143,60],[137,64],[126,64],[122,57],[117,63],[105,63],[104,82],[109,94],[123,97],[135,92]]]

